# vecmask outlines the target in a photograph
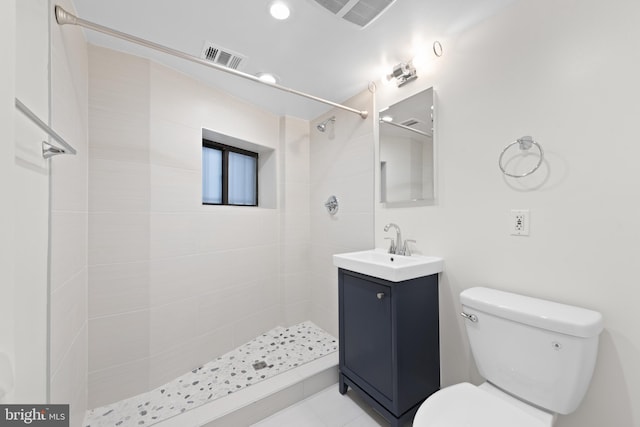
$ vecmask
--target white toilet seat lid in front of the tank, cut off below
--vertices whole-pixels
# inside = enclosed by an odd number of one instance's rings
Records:
[[[493,390],[460,383],[432,394],[418,408],[413,427],[551,427],[554,417],[546,412],[520,404],[493,386]]]

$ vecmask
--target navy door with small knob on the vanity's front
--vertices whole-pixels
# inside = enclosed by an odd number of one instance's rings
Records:
[[[344,367],[393,400],[391,288],[345,275]]]

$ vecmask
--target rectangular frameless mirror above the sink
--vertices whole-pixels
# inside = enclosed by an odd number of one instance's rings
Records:
[[[434,200],[433,88],[379,112],[380,202],[411,206]]]

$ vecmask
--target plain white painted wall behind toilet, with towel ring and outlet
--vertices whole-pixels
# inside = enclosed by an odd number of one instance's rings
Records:
[[[605,330],[589,392],[559,427],[640,425],[640,329],[635,319],[640,215],[637,117],[640,4],[518,2],[443,39],[431,75],[384,88],[379,105],[434,85],[438,202],[376,208],[376,245],[397,222],[420,252],[445,258],[441,276],[443,385],[480,382],[458,294],[486,285],[602,312]],[[533,135],[545,150],[525,179],[498,168],[503,147]],[[509,235],[529,209],[530,235]]]

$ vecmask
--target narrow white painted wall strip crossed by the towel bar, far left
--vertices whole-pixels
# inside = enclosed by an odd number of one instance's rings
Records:
[[[49,120],[49,26],[47,3],[15,2],[15,96],[44,122]],[[11,62],[10,62],[11,64]],[[47,400],[47,252],[49,168],[40,142],[46,134],[14,112],[11,158],[14,219],[13,402]],[[4,154],[4,153],[3,153]]]

